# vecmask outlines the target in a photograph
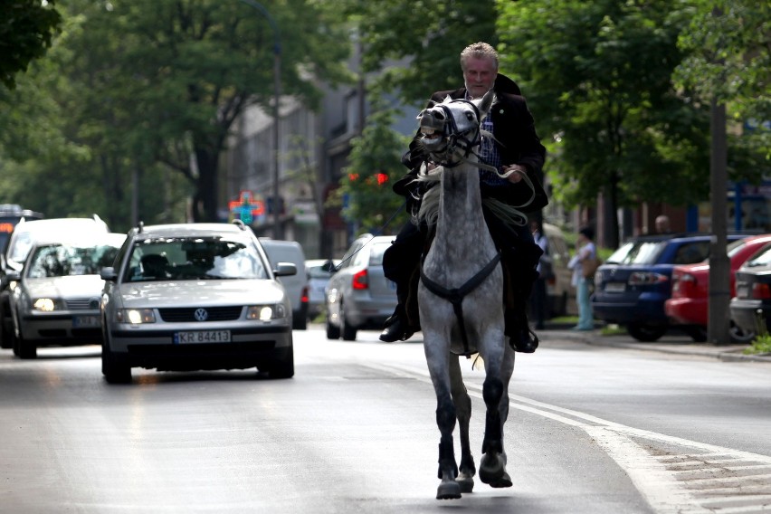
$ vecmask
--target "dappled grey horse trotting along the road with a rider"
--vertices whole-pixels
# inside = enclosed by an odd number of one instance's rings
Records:
[[[424,350],[436,392],[439,426],[438,500],[471,492],[476,473],[469,447],[471,398],[463,385],[459,356],[479,352],[484,360],[483,397],[487,407],[480,480],[510,487],[503,451],[503,424],[509,414],[509,380],[514,351],[503,334],[503,271],[500,253],[482,215],[479,162],[481,119],[494,95],[481,100],[451,100],[421,111],[420,141],[431,160],[418,180],[439,181],[424,196],[420,216],[435,222],[436,234],[425,255],[418,287]],[[485,137],[492,137],[484,133]],[[509,174],[503,175],[508,176]],[[432,211],[433,207],[433,214]],[[461,465],[455,461],[452,432],[460,424]]]

